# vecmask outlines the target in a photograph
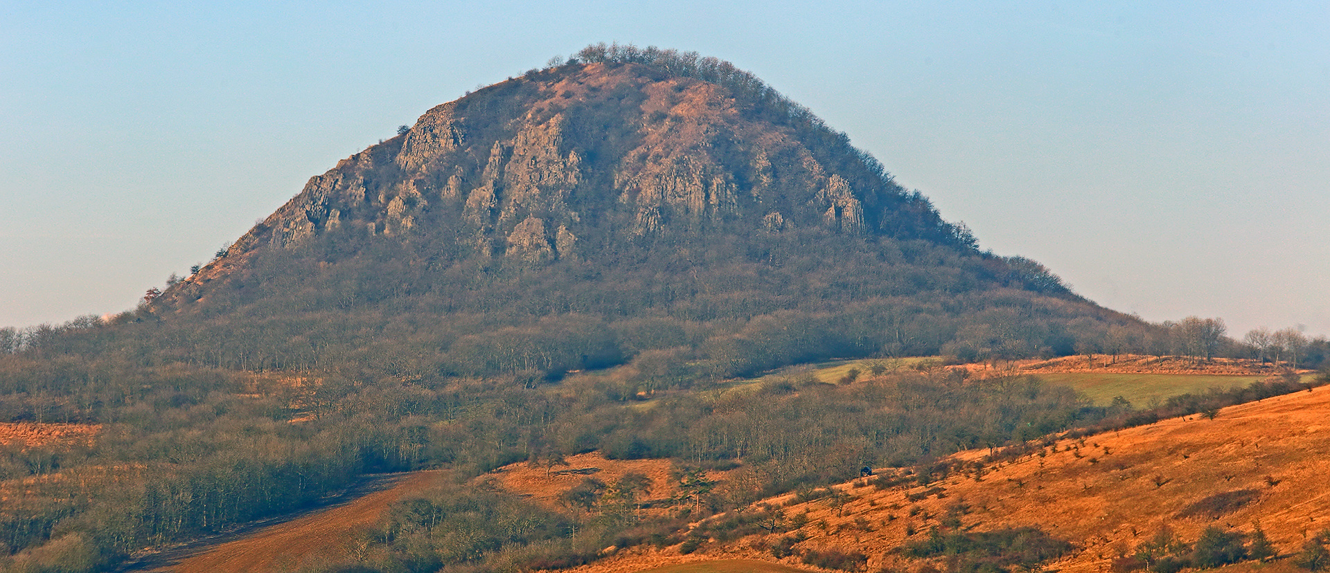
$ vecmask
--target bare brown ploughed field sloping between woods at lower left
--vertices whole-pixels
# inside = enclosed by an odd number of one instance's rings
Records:
[[[384,476],[386,487],[344,504],[243,532],[231,541],[168,556],[138,572],[249,573],[295,570],[322,560],[335,560],[356,549],[356,533],[372,526],[388,504],[422,492],[443,479],[442,471]],[[205,541],[205,545],[209,545]]]

